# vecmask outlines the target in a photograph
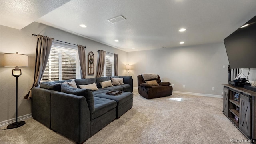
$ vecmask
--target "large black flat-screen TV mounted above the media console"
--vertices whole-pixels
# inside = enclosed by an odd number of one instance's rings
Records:
[[[243,26],[224,39],[228,61],[231,68],[256,68],[256,16]]]

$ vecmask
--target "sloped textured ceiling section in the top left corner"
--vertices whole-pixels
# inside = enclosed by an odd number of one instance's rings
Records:
[[[0,25],[22,29],[70,0],[0,0]]]

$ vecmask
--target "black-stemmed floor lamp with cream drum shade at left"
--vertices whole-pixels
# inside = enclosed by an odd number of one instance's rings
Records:
[[[4,54],[4,66],[15,66],[12,69],[12,75],[16,77],[16,122],[9,124],[8,129],[18,128],[25,124],[24,121],[18,122],[18,77],[21,75],[21,69],[18,67],[28,67],[28,56],[24,54]]]

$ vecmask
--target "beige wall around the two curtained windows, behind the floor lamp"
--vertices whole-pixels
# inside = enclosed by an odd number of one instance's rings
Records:
[[[96,57],[96,62],[98,57],[97,50],[105,50],[106,52],[119,54],[119,75],[127,74],[124,69],[127,53],[122,50],[36,22],[33,22],[22,30],[0,25],[0,122],[15,118],[16,101],[16,78],[12,76],[12,67],[4,67],[4,53],[18,52],[28,55],[28,68],[21,68],[22,75],[18,77],[18,116],[31,113],[31,100],[23,99],[23,96],[30,90],[34,80],[36,36],[32,36],[33,33],[49,36],[64,42],[84,45],[86,46],[86,55],[88,52],[92,51]],[[86,76],[86,78],[93,77],[95,77],[95,74]]]

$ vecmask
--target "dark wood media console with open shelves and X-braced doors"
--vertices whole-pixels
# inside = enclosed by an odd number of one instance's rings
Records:
[[[256,92],[224,85],[223,114],[246,136],[256,141]]]

